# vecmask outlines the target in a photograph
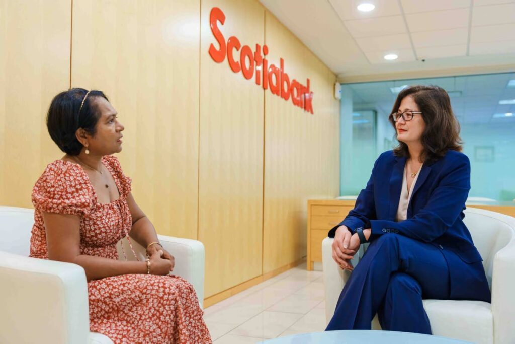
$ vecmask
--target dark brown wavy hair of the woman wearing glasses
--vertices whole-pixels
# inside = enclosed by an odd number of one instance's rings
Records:
[[[421,138],[424,146],[421,155],[422,161],[434,162],[449,150],[461,152],[460,126],[452,111],[449,94],[438,86],[410,86],[399,92],[397,100],[393,104],[392,113],[399,111],[402,100],[407,96],[413,97],[417,103],[426,125]],[[395,122],[391,114],[389,121],[395,129]],[[397,130],[395,137],[397,138]],[[409,158],[408,145],[399,141],[399,145],[393,150],[393,153],[396,156]]]

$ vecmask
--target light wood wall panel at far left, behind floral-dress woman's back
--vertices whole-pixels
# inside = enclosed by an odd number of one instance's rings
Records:
[[[32,207],[32,187],[60,151],[45,119],[70,85],[71,2],[0,1],[0,205]]]

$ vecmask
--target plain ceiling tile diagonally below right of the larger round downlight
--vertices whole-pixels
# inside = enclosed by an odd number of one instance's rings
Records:
[[[410,32],[454,29],[469,26],[468,8],[406,14]]]

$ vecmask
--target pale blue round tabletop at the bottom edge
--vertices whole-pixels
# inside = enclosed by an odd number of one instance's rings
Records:
[[[472,344],[468,341],[392,331],[328,331],[286,336],[263,344]]]

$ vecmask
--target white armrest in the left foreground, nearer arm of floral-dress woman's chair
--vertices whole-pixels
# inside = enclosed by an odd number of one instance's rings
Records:
[[[0,342],[85,344],[88,284],[71,263],[0,251]]]

